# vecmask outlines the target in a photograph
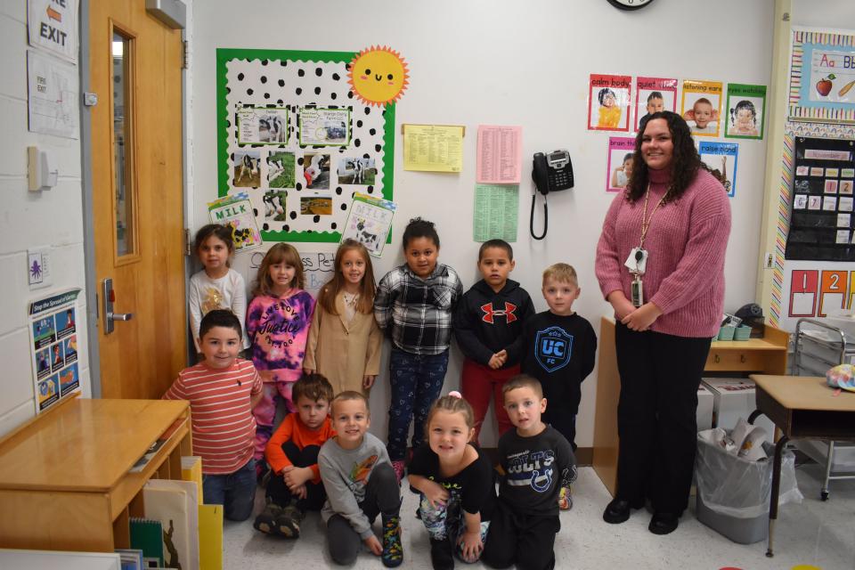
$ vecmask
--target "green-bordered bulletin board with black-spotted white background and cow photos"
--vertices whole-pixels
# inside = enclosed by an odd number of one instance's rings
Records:
[[[351,91],[352,52],[216,50],[217,195],[265,241],[337,242],[356,192],[392,199],[395,104]]]

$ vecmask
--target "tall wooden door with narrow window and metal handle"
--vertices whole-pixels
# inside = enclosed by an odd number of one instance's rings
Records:
[[[186,359],[182,39],[145,0],[89,3],[95,274],[105,398],[159,398]],[[113,312],[104,321],[104,282]]]

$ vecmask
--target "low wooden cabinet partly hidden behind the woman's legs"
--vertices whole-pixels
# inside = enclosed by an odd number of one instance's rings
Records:
[[[748,372],[786,374],[788,339],[786,331],[767,326],[763,338],[713,340],[704,371],[739,375]],[[615,321],[603,317],[599,329],[593,467],[613,496],[617,484],[617,401],[620,393],[621,379],[615,358]]]

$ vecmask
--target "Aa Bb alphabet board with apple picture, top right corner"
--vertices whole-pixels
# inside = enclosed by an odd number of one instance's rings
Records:
[[[855,123],[855,32],[793,28],[788,115]]]

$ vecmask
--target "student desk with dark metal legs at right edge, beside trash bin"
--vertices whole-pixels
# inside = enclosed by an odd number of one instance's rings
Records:
[[[775,521],[778,519],[778,493],[781,486],[781,454],[791,439],[835,439],[855,441],[855,394],[843,392],[835,396],[826,379],[817,376],[767,376],[752,374],[757,384],[757,411],[749,422],[761,413],[783,432],[775,444],[772,471],[772,496],[769,501],[769,542],[766,556],[772,551]]]

